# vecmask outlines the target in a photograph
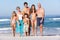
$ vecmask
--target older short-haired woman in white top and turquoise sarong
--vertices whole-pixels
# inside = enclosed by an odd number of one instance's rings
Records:
[[[23,15],[22,15],[19,7],[17,7],[16,10],[18,11],[17,16],[18,16],[18,21],[19,21],[17,23],[17,30],[16,31],[18,33],[20,33],[20,35],[22,35],[23,34],[23,26],[24,26],[24,24],[23,24]]]

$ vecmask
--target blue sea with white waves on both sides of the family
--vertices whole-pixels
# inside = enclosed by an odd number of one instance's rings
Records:
[[[10,18],[0,18],[0,33],[10,31]],[[39,29],[37,30],[39,31]],[[44,35],[60,35],[60,18],[45,17],[43,25]]]

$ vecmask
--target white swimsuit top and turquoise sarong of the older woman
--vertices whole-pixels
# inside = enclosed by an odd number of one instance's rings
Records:
[[[16,32],[18,32],[18,33],[20,33],[20,35],[22,35],[23,34],[23,27],[24,27],[24,23],[23,23],[23,20],[22,20],[22,14],[18,14],[18,17],[19,17],[19,23],[20,24],[18,24],[18,23],[16,23]]]

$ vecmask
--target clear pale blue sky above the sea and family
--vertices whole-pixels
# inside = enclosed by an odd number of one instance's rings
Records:
[[[16,11],[16,7],[19,6],[22,10],[24,8],[24,2],[28,2],[28,6],[31,7],[40,2],[45,9],[45,16],[59,16],[60,15],[60,0],[0,0],[0,17],[10,17],[12,11]]]

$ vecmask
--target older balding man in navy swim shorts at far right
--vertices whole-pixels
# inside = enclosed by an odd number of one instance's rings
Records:
[[[44,9],[41,7],[41,4],[38,3],[37,9],[37,26],[40,27],[40,33],[43,35],[43,22],[44,22]]]

